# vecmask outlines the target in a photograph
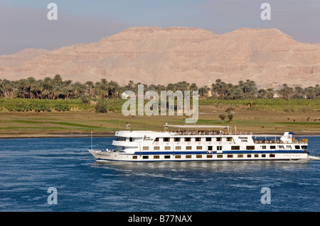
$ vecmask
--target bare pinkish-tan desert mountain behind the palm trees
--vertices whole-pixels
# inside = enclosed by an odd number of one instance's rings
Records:
[[[251,79],[264,86],[320,84],[320,45],[280,30],[240,28],[218,35],[200,28],[134,27],[58,50],[27,49],[0,56],[0,78],[73,81],[129,80],[146,84]]]

